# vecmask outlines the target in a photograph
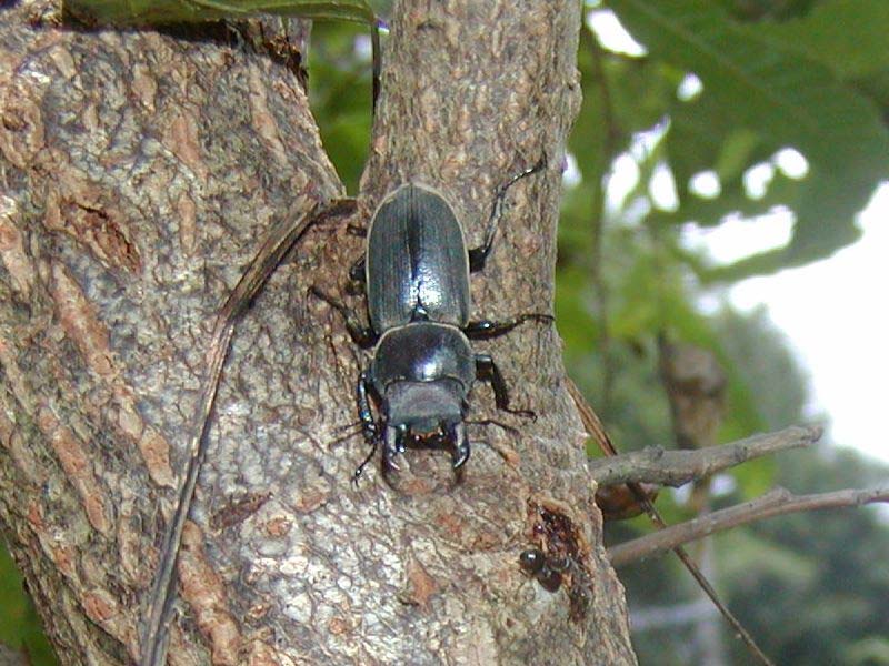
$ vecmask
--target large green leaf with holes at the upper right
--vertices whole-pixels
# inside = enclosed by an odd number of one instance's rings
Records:
[[[699,98],[677,101],[670,112],[671,133],[683,139],[668,137],[666,147],[682,204],[677,221],[688,220],[682,179],[725,169],[726,147],[738,141],[739,128],[747,132],[750,165],[785,147],[809,162],[799,186],[771,201],[796,213],[789,245],[728,266],[713,279],[799,265],[858,238],[855,216],[889,174],[889,132],[869,100],[796,44],[777,39],[781,27],[739,23],[708,0],[610,0],[609,6],[652,58],[693,71],[703,82]],[[735,173],[737,158],[728,160]],[[726,206],[721,214],[732,210]]]

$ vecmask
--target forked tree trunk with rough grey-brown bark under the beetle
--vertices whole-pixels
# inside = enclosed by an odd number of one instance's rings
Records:
[[[272,222],[342,195],[294,73],[202,30],[60,29],[0,12],[0,511],[66,664],[123,664],[197,424],[213,317]],[[170,664],[633,664],[551,326],[479,343],[516,406],[472,396],[472,458],[409,451],[360,487],[369,356],[342,290],[374,202],[418,180],[481,239],[475,316],[551,312],[580,8],[397,3],[357,214],[310,230],[236,330],[179,561]],[[267,36],[263,34],[263,39]],[[486,446],[488,443],[489,446]],[[566,555],[556,593],[518,566]]]

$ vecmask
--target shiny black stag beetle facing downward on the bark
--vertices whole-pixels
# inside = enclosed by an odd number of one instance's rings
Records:
[[[509,406],[503,376],[488,354],[477,354],[470,340],[508,333],[527,321],[550,322],[547,314],[522,314],[506,322],[469,321],[470,272],[481,271],[493,248],[506,191],[543,169],[545,160],[498,189],[485,243],[467,248],[463,228],[444,195],[419,183],[388,194],[371,218],[367,248],[350,271],[364,285],[370,326],[321,290],[314,295],[336,309],[356,344],[376,345],[370,365],[356,385],[358,414],[371,451],[354,473],[357,481],[383,445],[383,473],[398,470],[396,456],[407,445],[442,445],[452,467],[469,458],[465,417],[476,380],[490,382],[497,407],[526,417]],[[371,398],[379,407],[374,418]]]

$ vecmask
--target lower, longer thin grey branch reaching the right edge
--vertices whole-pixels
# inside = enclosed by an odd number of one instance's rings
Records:
[[[889,486],[873,490],[845,490],[812,495],[793,495],[786,488],[775,488],[761,497],[729,508],[715,511],[693,521],[666,527],[652,534],[615,546],[608,551],[613,567],[646,559],[665,551],[703,538],[716,532],[790,513],[862,506],[877,502],[889,503]]]

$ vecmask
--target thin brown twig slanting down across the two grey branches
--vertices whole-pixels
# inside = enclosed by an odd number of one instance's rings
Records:
[[[583,425],[588,428],[590,434],[595,436],[602,452],[606,455],[617,455],[617,450],[611,443],[608,433],[606,433],[602,422],[599,421],[599,416],[596,415],[596,412],[592,411],[592,407],[590,407],[583,397],[583,394],[580,393],[580,390],[570,379],[568,380],[568,392],[571,394],[571,397],[575,398],[575,404],[580,412],[580,418],[583,422]],[[632,491],[633,495],[636,495],[637,501],[646,509],[646,513],[648,514],[649,518],[651,518],[651,522],[659,529],[665,529],[667,527],[667,523],[665,523],[663,518],[660,517],[660,513],[658,513],[658,509],[655,508],[655,505],[648,498],[648,495],[646,495],[642,487],[636,482],[627,483],[627,487]],[[676,556],[679,557],[682,565],[688,569],[688,573],[691,574],[691,577],[695,578],[703,593],[710,597],[713,606],[716,606],[722,617],[726,618],[726,622],[731,625],[731,628],[735,629],[735,633],[743,642],[750,653],[761,664],[763,664],[763,666],[775,666],[771,659],[766,656],[766,653],[763,653],[757,645],[757,642],[753,640],[753,637],[747,632],[747,629],[743,628],[743,625],[722,603],[716,589],[713,589],[713,586],[710,585],[710,582],[707,579],[707,576],[701,573],[700,568],[698,568],[698,565],[695,564],[695,561],[691,559],[688,553],[686,553],[685,548],[682,548],[682,546],[676,546],[672,548],[672,552],[676,553]]]

